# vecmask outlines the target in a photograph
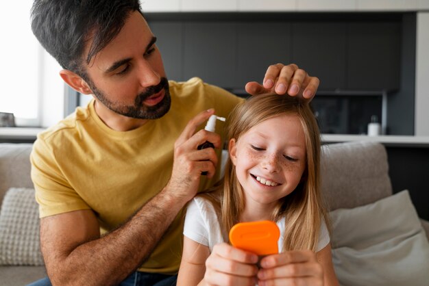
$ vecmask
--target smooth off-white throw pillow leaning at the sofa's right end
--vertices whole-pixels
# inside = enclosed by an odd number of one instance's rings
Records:
[[[429,285],[429,243],[408,190],[330,216],[341,285]]]

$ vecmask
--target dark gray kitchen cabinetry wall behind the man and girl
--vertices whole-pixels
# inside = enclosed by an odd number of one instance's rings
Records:
[[[169,79],[201,77],[242,95],[245,83],[262,81],[269,64],[295,63],[319,77],[317,97],[324,92],[343,100],[344,94],[354,94],[366,102],[362,96],[368,92],[385,92],[387,134],[414,133],[415,13],[145,16],[158,36]],[[356,132],[365,133],[365,120]]]

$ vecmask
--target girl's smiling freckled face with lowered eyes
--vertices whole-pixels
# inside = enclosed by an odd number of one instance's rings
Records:
[[[282,114],[230,141],[230,156],[243,187],[245,212],[271,210],[299,184],[306,168],[306,145],[296,114]]]

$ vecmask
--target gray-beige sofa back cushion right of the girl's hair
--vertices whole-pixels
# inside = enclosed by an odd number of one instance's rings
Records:
[[[390,196],[386,149],[377,142],[323,145],[321,190],[330,210],[367,205]]]

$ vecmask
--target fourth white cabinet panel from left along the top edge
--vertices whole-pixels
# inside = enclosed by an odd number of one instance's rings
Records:
[[[356,10],[356,0],[297,0],[297,11],[344,11]]]

